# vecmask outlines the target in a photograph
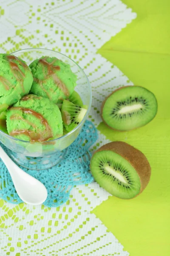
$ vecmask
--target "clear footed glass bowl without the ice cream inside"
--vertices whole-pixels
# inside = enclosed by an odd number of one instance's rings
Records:
[[[70,64],[71,70],[77,75],[77,86],[75,87],[75,90],[82,98],[83,104],[88,106],[88,111],[86,112],[82,122],[80,122],[74,130],[55,140],[45,141],[43,143],[32,143],[24,140],[18,140],[3,131],[0,131],[0,141],[10,149],[8,150],[8,154],[15,163],[33,170],[51,168],[63,159],[68,146],[76,140],[82,126],[84,125],[91,108],[91,85],[81,67],[62,53],[49,49],[31,48],[12,52],[11,54],[22,58],[28,65],[34,59],[42,57],[42,55],[57,57],[63,62]]]

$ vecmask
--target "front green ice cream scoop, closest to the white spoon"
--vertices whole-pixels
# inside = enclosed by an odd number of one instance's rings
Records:
[[[26,141],[43,142],[63,134],[61,112],[49,99],[29,94],[7,111],[8,134]]]

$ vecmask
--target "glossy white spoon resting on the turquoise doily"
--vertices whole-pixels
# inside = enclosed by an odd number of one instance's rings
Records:
[[[39,180],[20,169],[1,147],[0,158],[5,163],[21,200],[32,205],[42,204],[47,198],[45,186]]]

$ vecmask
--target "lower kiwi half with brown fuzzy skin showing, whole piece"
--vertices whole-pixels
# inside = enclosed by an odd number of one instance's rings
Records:
[[[111,195],[134,198],[147,186],[151,168],[144,154],[125,142],[111,142],[91,158],[91,172],[100,186]]]

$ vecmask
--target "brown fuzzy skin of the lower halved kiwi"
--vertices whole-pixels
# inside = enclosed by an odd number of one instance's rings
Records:
[[[133,168],[138,173],[141,181],[141,189],[139,192],[140,194],[149,183],[150,175],[151,175],[151,167],[145,155],[138,149],[122,141],[114,141],[114,142],[105,144],[101,148],[99,148],[96,152],[105,151],[105,150],[110,150],[115,152],[116,154],[121,155],[133,166]]]

